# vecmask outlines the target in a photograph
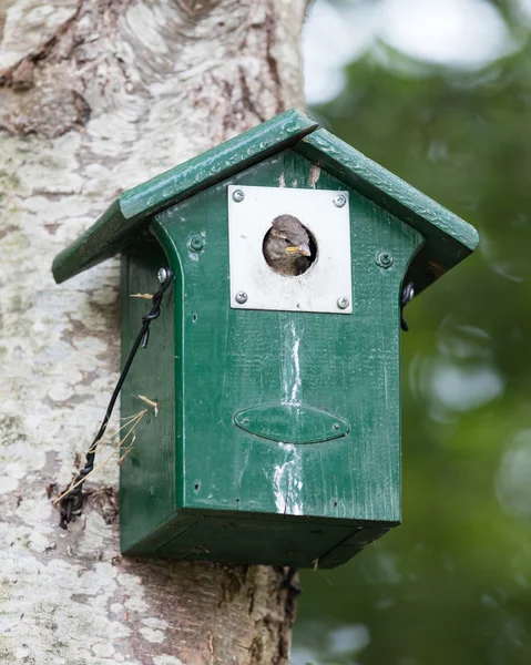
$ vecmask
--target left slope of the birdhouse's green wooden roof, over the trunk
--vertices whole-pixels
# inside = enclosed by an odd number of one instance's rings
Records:
[[[122,252],[157,211],[296,143],[317,123],[295,109],[124,192],[82,236],[54,259],[58,283]]]

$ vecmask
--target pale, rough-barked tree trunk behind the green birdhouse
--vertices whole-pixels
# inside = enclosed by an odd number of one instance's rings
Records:
[[[58,528],[118,378],[119,263],[50,266],[122,190],[303,106],[305,3],[0,0],[2,664],[288,661],[278,572],[121,557],[115,464]]]

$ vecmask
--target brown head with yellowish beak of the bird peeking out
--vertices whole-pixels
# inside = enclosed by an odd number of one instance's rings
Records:
[[[264,243],[264,255],[269,265],[276,267],[295,264],[300,256],[312,256],[309,236],[297,217],[279,215],[273,219]],[[280,272],[284,272],[280,269]]]

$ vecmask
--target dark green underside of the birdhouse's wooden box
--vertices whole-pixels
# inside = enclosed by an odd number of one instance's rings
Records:
[[[335,567],[399,522],[268,516],[241,511],[180,510],[122,553],[184,561]]]

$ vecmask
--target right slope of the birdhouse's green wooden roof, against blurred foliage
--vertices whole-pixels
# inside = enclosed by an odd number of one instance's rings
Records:
[[[478,246],[473,226],[326,130],[299,141],[295,151],[422,234],[426,244],[407,276],[407,280],[413,282],[416,293]]]

